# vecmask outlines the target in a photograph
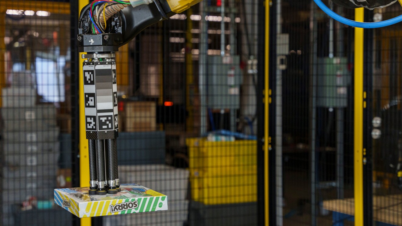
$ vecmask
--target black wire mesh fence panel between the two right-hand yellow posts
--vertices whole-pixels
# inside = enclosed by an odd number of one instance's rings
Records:
[[[353,225],[354,29],[312,1],[275,1],[271,10],[276,224]]]

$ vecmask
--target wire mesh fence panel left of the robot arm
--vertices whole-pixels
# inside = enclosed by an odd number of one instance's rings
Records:
[[[0,224],[71,225],[53,206],[53,189],[76,176],[70,5],[2,1],[0,8]]]

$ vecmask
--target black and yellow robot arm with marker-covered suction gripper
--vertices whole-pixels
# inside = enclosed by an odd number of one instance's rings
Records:
[[[85,129],[90,195],[115,194],[119,122],[115,51],[146,27],[183,12],[201,0],[94,0],[80,13],[78,49],[84,63]]]

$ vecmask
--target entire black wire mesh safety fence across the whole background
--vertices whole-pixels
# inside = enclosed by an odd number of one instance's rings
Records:
[[[87,173],[78,164],[80,9],[75,1],[0,3],[2,225],[79,224],[53,204],[53,189],[79,187]],[[365,126],[365,225],[402,224],[399,25],[365,30],[357,116],[355,28],[312,1],[271,3],[269,118],[257,111],[262,1],[203,1],[120,47],[119,179],[168,195],[168,210],[94,224],[259,225],[267,197],[258,189],[269,178],[258,176],[257,137],[269,120],[270,222],[353,225],[356,117]],[[366,10],[365,20],[400,11]]]

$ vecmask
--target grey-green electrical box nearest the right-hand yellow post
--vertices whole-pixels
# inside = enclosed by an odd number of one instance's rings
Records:
[[[318,59],[317,106],[324,108],[347,107],[351,74],[347,58],[325,57]]]

